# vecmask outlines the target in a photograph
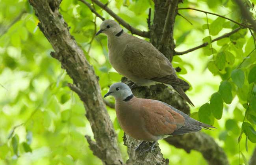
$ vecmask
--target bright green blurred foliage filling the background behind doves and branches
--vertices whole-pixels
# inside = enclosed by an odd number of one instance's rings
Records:
[[[132,26],[148,30],[149,8],[154,13],[152,1],[111,0],[108,6]],[[179,7],[194,7],[243,22],[232,0],[189,0]],[[111,18],[96,5],[95,8],[105,18]],[[108,62],[107,37],[94,37],[102,21],[77,0],[63,0],[60,11],[100,77],[102,95],[106,94],[108,86],[120,81],[121,75]],[[209,41],[209,29],[213,39],[238,27],[218,16],[206,17],[205,13],[193,10],[178,12],[193,25],[176,16],[176,51]],[[251,12],[256,15],[254,10]],[[20,19],[15,21],[20,13],[23,13]],[[71,79],[50,56],[52,47],[37,27],[38,22],[26,0],[0,0],[0,164],[99,165],[100,159],[93,155],[84,138],[93,134],[83,104],[67,87]],[[173,59],[173,66],[182,68],[179,76],[192,86],[187,92],[195,104],[191,116],[214,123],[217,130],[203,131],[224,148],[232,165],[247,164],[256,142],[254,49],[250,31],[241,29],[228,38]],[[114,102],[113,98],[108,101]],[[108,112],[123,158],[127,159],[115,110],[108,107]],[[245,134],[238,143],[242,124]],[[164,157],[172,164],[206,164],[199,152],[187,154],[165,141],[159,142]]]

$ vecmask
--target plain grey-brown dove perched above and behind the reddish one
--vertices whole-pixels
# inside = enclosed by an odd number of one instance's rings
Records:
[[[171,62],[150,42],[125,33],[114,20],[103,21],[96,35],[100,33],[108,36],[109,62],[117,72],[137,85],[169,84],[194,106],[181,88],[189,84],[177,77]]]

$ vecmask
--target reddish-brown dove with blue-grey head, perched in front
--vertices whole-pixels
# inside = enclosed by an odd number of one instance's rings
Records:
[[[159,139],[171,135],[197,132],[202,127],[215,128],[161,101],[137,98],[124,83],[112,84],[104,98],[109,95],[115,97],[117,120],[124,132],[132,138],[143,140],[135,150],[149,141],[153,141],[152,145],[142,152],[152,150]]]

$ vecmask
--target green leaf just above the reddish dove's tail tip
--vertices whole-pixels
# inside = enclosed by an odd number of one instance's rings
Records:
[[[203,123],[212,124],[211,121],[214,119],[211,118],[211,105],[209,103],[205,103],[199,108],[198,118]]]

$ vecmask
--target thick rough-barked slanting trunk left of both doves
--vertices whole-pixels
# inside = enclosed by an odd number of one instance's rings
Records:
[[[39,28],[52,45],[52,57],[61,62],[74,84],[70,89],[76,92],[86,109],[86,117],[91,124],[95,142],[86,137],[93,152],[104,165],[122,165],[122,157],[117,145],[117,137],[109,118],[100,86],[93,67],[85,59],[83,50],[69,33],[69,27],[59,13],[61,0],[29,0],[40,20]]]

